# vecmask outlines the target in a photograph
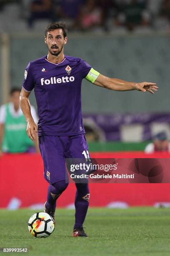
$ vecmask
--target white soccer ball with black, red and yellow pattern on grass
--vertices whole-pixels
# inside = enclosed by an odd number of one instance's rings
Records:
[[[28,230],[37,238],[50,236],[54,228],[54,220],[46,212],[36,212],[28,220]]]

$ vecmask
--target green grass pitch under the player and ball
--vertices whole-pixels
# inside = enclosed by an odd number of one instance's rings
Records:
[[[40,256],[169,256],[170,209],[90,208],[85,220],[88,238],[73,238],[74,210],[57,209],[56,227],[48,238],[35,238],[27,222],[35,210],[0,210],[0,247],[28,247]],[[40,212],[40,210],[39,210]],[[4,255],[4,253],[0,253]]]

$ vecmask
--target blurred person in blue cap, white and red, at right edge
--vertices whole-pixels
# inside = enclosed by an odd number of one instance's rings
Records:
[[[160,151],[170,152],[170,142],[165,131],[157,133],[153,138],[153,143],[149,143],[145,148],[147,154]]]

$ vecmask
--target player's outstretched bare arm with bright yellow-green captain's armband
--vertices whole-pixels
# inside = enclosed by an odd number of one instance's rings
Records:
[[[95,85],[104,87],[109,90],[114,90],[114,91],[138,90],[142,92],[148,91],[154,94],[153,91],[158,90],[157,85],[152,82],[140,82],[140,83],[127,82],[117,78],[105,77],[104,75],[100,74],[94,69],[91,69],[85,78]]]

